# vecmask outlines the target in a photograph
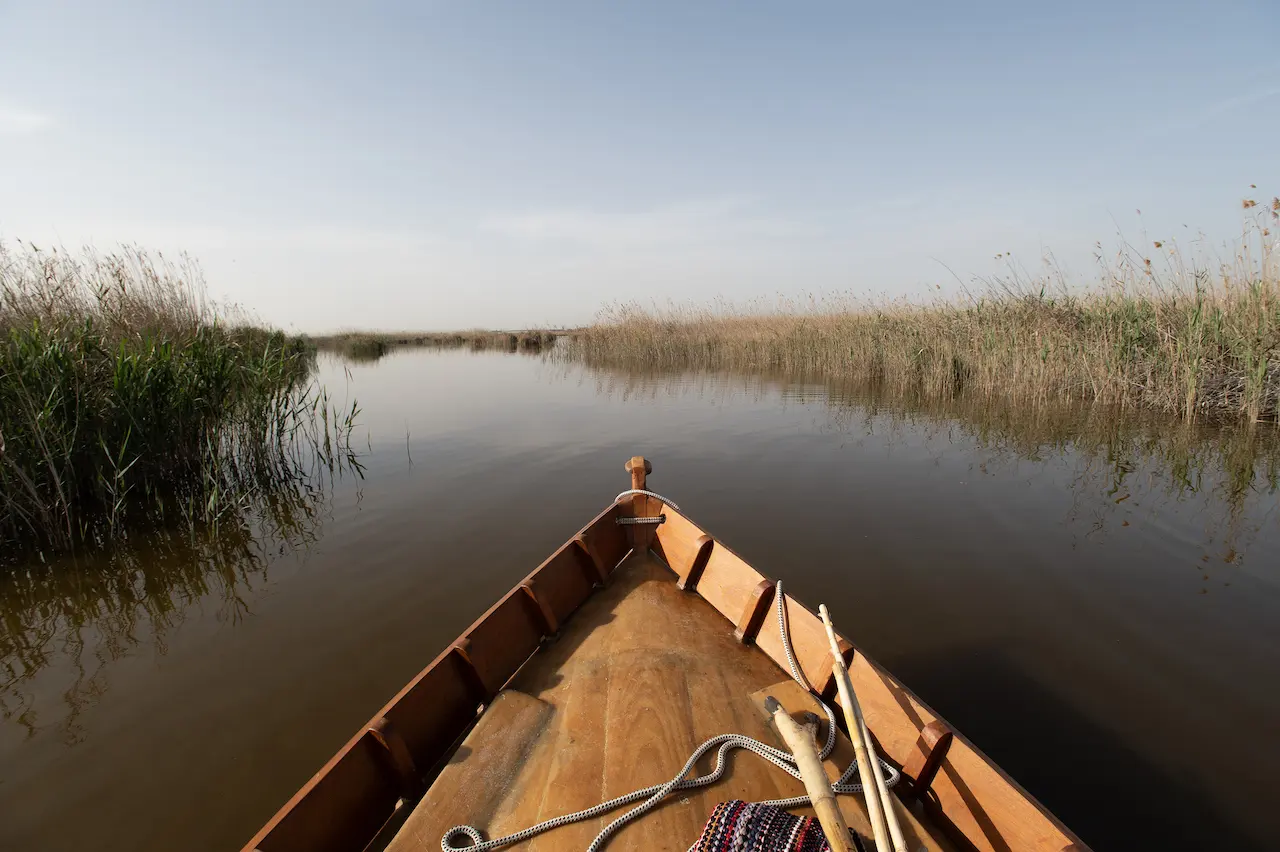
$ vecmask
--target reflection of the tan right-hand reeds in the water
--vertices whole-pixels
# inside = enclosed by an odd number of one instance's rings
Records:
[[[575,371],[562,374],[572,379]],[[1029,462],[1056,471],[1073,494],[1065,518],[1083,535],[1128,527],[1135,509],[1148,521],[1181,508],[1203,525],[1201,560],[1240,564],[1280,503],[1280,430],[1274,423],[1187,423],[1133,408],[1004,398],[950,398],[877,385],[788,376],[646,374],[593,370],[598,394],[623,402],[696,398],[710,403],[778,400],[817,406],[815,429],[850,440],[918,444],[942,458],[982,450],[977,473]],[[1190,509],[1190,512],[1187,512]]]

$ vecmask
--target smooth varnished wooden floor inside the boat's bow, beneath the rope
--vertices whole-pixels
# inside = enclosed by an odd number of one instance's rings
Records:
[[[764,654],[735,641],[733,626],[709,604],[680,591],[671,571],[648,554],[632,555],[485,710],[388,848],[435,852],[460,824],[485,838],[507,835],[669,780],[716,734],[777,743],[753,693],[777,686],[788,709],[804,709],[804,692],[783,679]],[[783,696],[787,687],[795,691]],[[828,762],[832,778],[851,751],[842,739]],[[712,765],[708,755],[698,773]],[[799,780],[739,750],[718,783],[671,797],[621,829],[608,849],[684,852],[717,803],[803,792]],[[840,798],[850,825],[869,835],[861,797]],[[508,848],[585,849],[625,810]],[[913,849],[948,848],[900,812]]]

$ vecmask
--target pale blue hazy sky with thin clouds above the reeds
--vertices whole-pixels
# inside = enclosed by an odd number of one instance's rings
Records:
[[[0,239],[186,251],[300,331],[1087,280],[1280,193],[1277,43],[1276,0],[0,0]]]

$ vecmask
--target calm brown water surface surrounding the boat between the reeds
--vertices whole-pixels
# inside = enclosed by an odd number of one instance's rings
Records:
[[[0,580],[0,848],[238,848],[634,454],[1094,848],[1276,847],[1268,434],[468,352],[323,372],[362,480]]]

